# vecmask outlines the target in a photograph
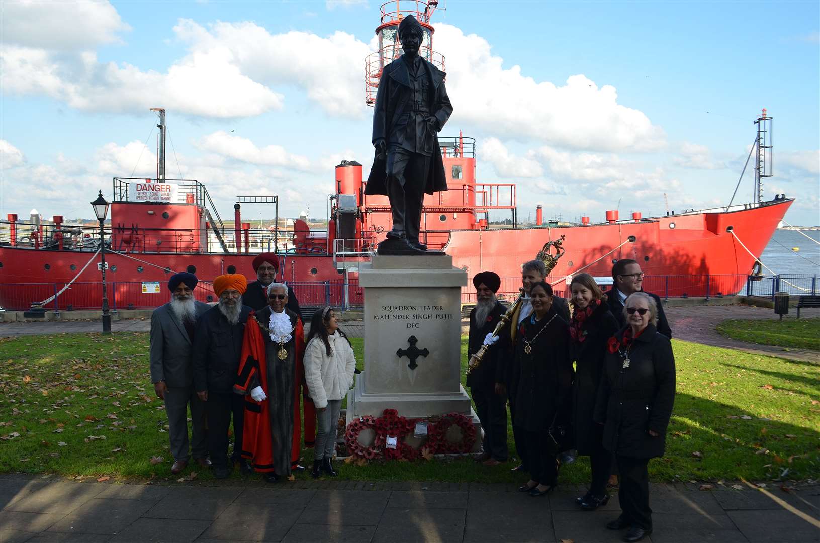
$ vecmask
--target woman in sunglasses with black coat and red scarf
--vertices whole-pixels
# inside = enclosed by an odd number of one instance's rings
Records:
[[[607,527],[629,528],[623,541],[633,543],[652,533],[647,464],[663,456],[675,403],[675,357],[655,328],[658,308],[649,294],[630,294],[623,312],[626,328],[608,341],[595,422],[604,424],[604,447],[621,473],[621,516]]]

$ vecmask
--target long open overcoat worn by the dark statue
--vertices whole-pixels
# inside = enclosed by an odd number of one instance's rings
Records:
[[[447,96],[447,89],[444,88],[443,71],[432,65],[432,63],[421,59],[421,66],[427,71],[427,75],[432,80],[432,90],[430,91],[430,115],[438,120],[439,129],[449,119],[453,112],[453,106]],[[410,88],[410,78],[408,67],[404,61],[404,55],[390,62],[385,66],[379,80],[379,90],[376,92],[376,106],[373,111],[373,143],[377,139],[387,140],[390,130],[398,122],[402,115],[408,111],[411,104],[412,90]],[[433,134],[435,145],[433,146],[433,157],[430,161],[430,171],[425,180],[424,192],[433,194],[447,190],[447,177],[444,176],[444,161],[441,158],[441,148],[439,147],[439,137]],[[389,145],[390,142],[387,141]],[[378,157],[378,150],[373,157],[373,167],[370,176],[367,178],[364,194],[385,194],[386,186],[386,159]]]

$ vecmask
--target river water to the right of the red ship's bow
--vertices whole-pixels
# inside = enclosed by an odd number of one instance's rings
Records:
[[[775,230],[760,260],[777,273],[820,275],[820,244],[801,232],[820,241],[820,230]],[[764,268],[763,274],[769,275],[769,272]]]

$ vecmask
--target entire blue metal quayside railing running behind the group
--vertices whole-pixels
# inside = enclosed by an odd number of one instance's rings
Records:
[[[555,278],[550,278],[555,281]],[[560,279],[560,278],[558,278]],[[194,297],[203,302],[216,302],[213,278],[201,278]],[[114,311],[124,309],[157,308],[168,301],[166,280],[153,281],[106,281],[109,305]],[[362,308],[364,290],[355,277],[326,281],[288,281],[299,304],[306,308],[330,305],[340,310]],[[512,303],[518,295],[521,276],[503,277],[497,294],[503,303]],[[740,285],[735,288],[735,285]],[[37,303],[57,294],[65,283],[8,283],[0,284],[0,308],[7,311],[25,311]],[[811,274],[781,274],[755,276],[745,274],[694,274],[645,276],[644,288],[658,294],[662,299],[678,298],[729,298],[761,297],[774,299],[776,292],[790,295],[820,294],[820,276]],[[718,290],[718,289],[725,290]],[[567,286],[556,285],[555,294],[567,297]],[[473,286],[462,287],[462,303],[476,303]],[[46,304],[47,311],[61,312],[80,309],[99,309],[102,303],[101,281],[77,281],[57,298]]]

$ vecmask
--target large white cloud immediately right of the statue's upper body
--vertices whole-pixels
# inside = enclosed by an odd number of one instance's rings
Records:
[[[435,26],[434,48],[446,57],[451,123],[572,148],[651,150],[665,144],[663,130],[643,112],[617,103],[611,85],[599,89],[584,75],[572,75],[563,86],[537,82],[521,66],[503,68],[490,43],[452,25]]]

